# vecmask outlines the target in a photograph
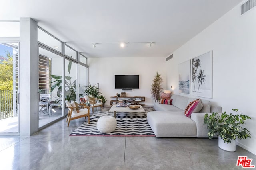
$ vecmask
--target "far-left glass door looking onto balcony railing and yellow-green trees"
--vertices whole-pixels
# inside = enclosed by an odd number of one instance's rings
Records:
[[[0,133],[19,132],[18,43],[0,43]]]

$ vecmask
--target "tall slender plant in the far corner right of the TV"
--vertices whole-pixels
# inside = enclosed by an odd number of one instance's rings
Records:
[[[162,92],[164,90],[162,88],[162,83],[163,83],[162,75],[158,74],[158,72],[156,72],[156,75],[155,75],[155,77],[152,81],[152,85],[151,85],[151,96],[155,100],[160,99],[160,92]]]

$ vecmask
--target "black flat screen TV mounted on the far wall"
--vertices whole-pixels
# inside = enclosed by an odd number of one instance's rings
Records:
[[[115,88],[139,88],[139,75],[115,75]]]

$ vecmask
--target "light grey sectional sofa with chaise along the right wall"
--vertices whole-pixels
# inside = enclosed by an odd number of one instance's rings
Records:
[[[154,103],[156,111],[148,112],[148,124],[156,137],[208,137],[204,115],[212,112],[222,113],[222,108],[201,99],[203,104],[201,111],[186,117],[184,114],[186,106],[197,98],[174,94],[171,99],[172,105]]]

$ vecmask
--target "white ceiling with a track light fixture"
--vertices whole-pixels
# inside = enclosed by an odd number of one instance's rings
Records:
[[[0,20],[31,17],[86,57],[168,57],[242,0],[0,0]],[[128,43],[124,48],[119,44]]]

